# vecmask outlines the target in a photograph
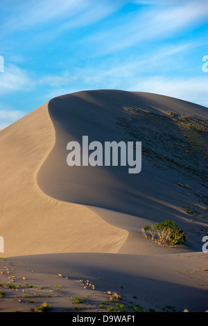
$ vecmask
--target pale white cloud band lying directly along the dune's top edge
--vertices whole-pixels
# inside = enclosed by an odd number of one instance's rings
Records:
[[[111,71],[107,71],[105,76],[103,76],[103,74],[94,77],[86,76],[84,80],[86,85],[85,90],[106,88],[123,89],[132,92],[149,92],[180,98],[184,101],[203,105],[208,108],[207,77],[189,78],[189,80],[182,77],[168,78],[166,76],[152,76],[149,78],[137,78],[132,76],[132,78],[130,78],[130,72],[128,72],[128,70],[125,71],[125,67],[123,67],[123,69],[125,84],[121,83],[121,78],[119,76],[110,78],[118,72],[118,70],[112,69]],[[101,85],[102,87],[100,87]],[[81,90],[84,89],[73,87],[53,89],[43,96],[43,100],[49,101],[56,96],[79,92]]]

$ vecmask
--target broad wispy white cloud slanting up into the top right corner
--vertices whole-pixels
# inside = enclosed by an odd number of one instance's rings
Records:
[[[207,3],[202,1],[173,1],[172,6],[153,6],[130,12],[125,20],[86,37],[85,42],[95,44],[95,55],[106,55],[114,51],[171,37],[183,28],[192,26],[208,17]],[[207,8],[208,9],[208,8]],[[98,46],[101,44],[101,46]]]

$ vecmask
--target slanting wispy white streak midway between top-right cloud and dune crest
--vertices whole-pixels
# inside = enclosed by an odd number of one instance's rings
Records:
[[[120,60],[111,60],[103,62],[103,65],[91,65],[82,69],[76,69],[75,74],[78,80],[83,80],[89,85],[113,85],[120,87],[125,85],[128,87],[131,80],[137,78],[146,79],[147,74],[155,75],[155,71],[175,72],[175,69],[180,70],[182,65],[185,69],[187,65],[187,54],[193,49],[200,46],[200,42],[186,42],[179,44],[167,44],[159,47],[154,52],[140,53],[139,59],[137,55],[129,55],[127,58]],[[200,62],[201,63],[201,62]],[[186,64],[186,65],[184,65]],[[189,67],[189,66],[188,66]]]

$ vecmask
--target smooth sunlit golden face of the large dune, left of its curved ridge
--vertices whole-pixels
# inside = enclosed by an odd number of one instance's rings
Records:
[[[119,250],[127,231],[87,207],[47,196],[37,185],[37,172],[55,144],[48,103],[1,130],[0,139],[1,256]]]

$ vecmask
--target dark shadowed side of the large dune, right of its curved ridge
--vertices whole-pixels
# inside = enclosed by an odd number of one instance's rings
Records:
[[[132,109],[139,110],[138,117]],[[175,166],[171,163],[174,155],[187,155],[181,148],[188,145],[168,112],[191,114],[200,119],[207,117],[207,108],[200,105],[141,92],[97,90],[53,98],[49,102],[49,114],[55,128],[55,146],[37,175],[38,185],[58,200],[89,205],[108,223],[112,214],[96,207],[150,221],[173,219],[189,232],[190,221],[181,207],[189,206],[190,200],[196,198],[193,191],[178,184],[191,182],[191,188],[196,191],[201,185],[178,162]],[[68,166],[68,142],[78,141],[82,148],[84,135],[89,137],[89,142],[100,141],[103,148],[105,141],[134,140],[141,141],[144,148],[149,146],[149,152],[142,155],[141,172],[128,173],[128,165]],[[157,159],[159,155],[162,157],[160,153],[155,157],[150,155],[157,147],[166,155],[164,164]],[[118,217],[114,225],[131,231],[130,219],[123,221],[120,223]],[[139,220],[135,230],[141,230]],[[199,246],[201,243],[198,249]]]

